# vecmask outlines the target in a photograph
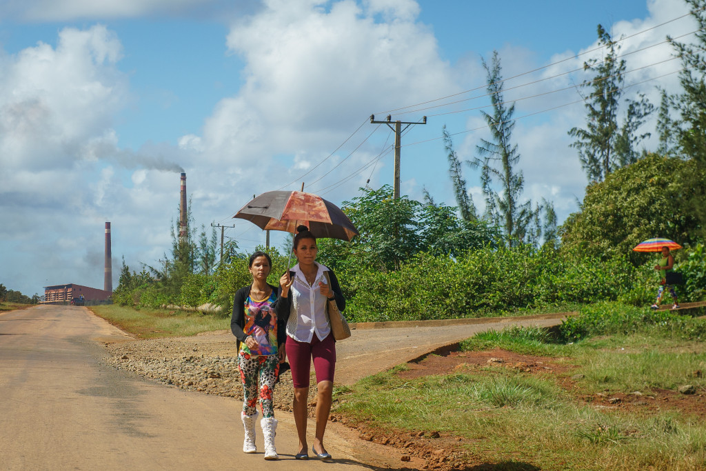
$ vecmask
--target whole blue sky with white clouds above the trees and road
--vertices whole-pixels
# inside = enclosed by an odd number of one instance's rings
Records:
[[[579,100],[570,87],[587,76],[576,69],[600,52],[573,56],[596,47],[599,23],[616,38],[640,33],[621,42],[622,52],[654,47],[626,56],[628,70],[645,67],[626,83],[653,80],[626,95],[657,104],[656,86],[676,90],[678,70],[677,61],[662,62],[671,50],[659,43],[695,29],[690,18],[674,20],[686,13],[682,0],[4,2],[0,282],[25,294],[68,282],[102,287],[105,221],[114,285],[122,256],[137,270],[155,264],[178,217],[179,167],[196,223],[235,224],[227,235],[250,251],[263,233],[230,217],[253,193],[303,180],[341,203],[369,178],[373,187],[391,184],[391,154],[369,162],[392,136],[366,123],[369,115],[464,90],[480,88],[431,105],[483,95],[480,58],[493,49],[505,78],[541,68],[508,80],[505,99],[517,100],[515,117],[541,112],[518,119],[513,139],[525,197],[554,201],[563,220],[586,184],[567,136],[585,114],[580,103],[561,105]],[[484,105],[487,97],[393,113],[429,116],[402,138],[403,193],[420,199],[427,189],[455,204],[441,129],[455,133],[462,160],[472,159],[487,137],[483,122],[477,109],[456,111]],[[477,170],[465,167],[464,176],[482,207]]]

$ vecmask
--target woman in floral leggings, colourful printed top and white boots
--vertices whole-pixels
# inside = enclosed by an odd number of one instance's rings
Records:
[[[263,411],[260,426],[265,441],[265,460],[279,458],[275,449],[277,420],[273,407],[273,391],[279,376],[280,363],[285,361],[286,339],[285,326],[277,319],[275,313],[277,288],[267,282],[271,268],[272,260],[268,254],[262,251],[252,254],[248,269],[253,282],[235,293],[233,317],[230,321],[230,329],[238,339],[238,369],[243,383],[243,451],[257,451],[256,404],[260,398]]]

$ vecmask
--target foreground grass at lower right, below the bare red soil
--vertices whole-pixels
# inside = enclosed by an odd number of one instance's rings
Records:
[[[488,373],[411,381],[378,374],[342,393],[345,402],[336,410],[389,434],[461,437],[481,463],[519,460],[543,470],[706,465],[706,426],[699,419],[606,413],[572,400],[552,381],[501,369]]]

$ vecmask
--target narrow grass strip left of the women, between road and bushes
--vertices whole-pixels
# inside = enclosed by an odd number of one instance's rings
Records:
[[[140,309],[107,304],[88,309],[138,338],[186,337],[230,328],[230,319],[189,311]]]

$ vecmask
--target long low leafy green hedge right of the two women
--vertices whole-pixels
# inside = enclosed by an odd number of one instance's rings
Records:
[[[488,316],[546,306],[615,301],[641,278],[627,256],[599,261],[579,250],[529,245],[467,251],[457,258],[417,254],[393,272],[340,274],[353,321]]]

